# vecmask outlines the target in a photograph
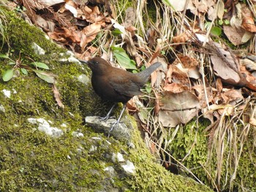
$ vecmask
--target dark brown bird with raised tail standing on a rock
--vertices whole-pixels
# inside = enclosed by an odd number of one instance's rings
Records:
[[[124,104],[118,120],[113,124],[110,131],[112,131],[119,123],[121,115],[123,115],[126,108],[127,101],[129,101],[133,96],[141,94],[140,89],[143,88],[146,82],[148,82],[150,74],[161,66],[161,63],[157,62],[142,72],[133,74],[124,71],[123,69],[113,67],[108,63],[108,61],[99,57],[94,57],[89,61],[81,62],[88,64],[91,68],[91,84],[97,95],[102,99],[113,101],[115,103],[122,102]],[[105,118],[102,118],[102,120],[108,120],[110,113],[115,106],[116,104],[111,107],[108,114]]]

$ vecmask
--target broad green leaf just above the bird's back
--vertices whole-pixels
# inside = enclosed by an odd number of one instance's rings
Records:
[[[125,69],[137,69],[135,66],[135,61],[132,61],[125,50],[121,47],[111,47],[114,53],[114,57],[118,61],[118,64],[120,64]]]

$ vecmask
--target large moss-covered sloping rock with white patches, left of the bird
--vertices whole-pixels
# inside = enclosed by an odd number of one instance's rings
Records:
[[[0,80],[0,191],[211,191],[157,164],[138,131],[132,135],[135,147],[130,149],[86,126],[86,115],[106,111],[91,84],[80,81],[82,74],[89,74],[87,67],[60,61],[70,55],[15,12],[0,9],[1,19],[8,23],[2,37],[9,39],[7,46],[1,38],[1,54],[13,61],[20,55],[26,66],[31,60],[47,64],[64,104],[64,108],[57,104],[53,85],[31,70],[28,75],[15,74],[8,82]],[[34,52],[33,42],[45,50],[44,55]],[[1,58],[1,73],[12,68],[8,61]],[[49,135],[43,128],[62,134]],[[116,154],[123,159],[117,161]],[[126,171],[128,166],[135,169]]]

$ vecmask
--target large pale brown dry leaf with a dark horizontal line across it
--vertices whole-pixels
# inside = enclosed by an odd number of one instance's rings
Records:
[[[159,122],[165,127],[175,127],[179,123],[189,122],[200,109],[197,97],[189,91],[165,93],[160,106]]]

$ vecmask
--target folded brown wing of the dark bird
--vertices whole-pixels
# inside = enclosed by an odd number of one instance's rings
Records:
[[[141,94],[140,85],[138,82],[132,80],[118,80],[111,81],[110,85],[113,89],[124,96],[137,96]]]

